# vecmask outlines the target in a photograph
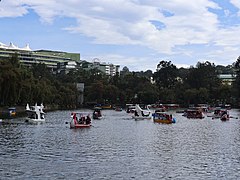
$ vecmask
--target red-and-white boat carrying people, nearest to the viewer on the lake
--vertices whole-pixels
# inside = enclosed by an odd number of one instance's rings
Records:
[[[70,128],[86,128],[91,126],[90,114],[87,112],[72,112]]]

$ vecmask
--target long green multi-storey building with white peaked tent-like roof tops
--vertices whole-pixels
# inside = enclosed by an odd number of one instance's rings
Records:
[[[67,53],[50,50],[33,51],[30,49],[29,45],[19,48],[13,43],[10,43],[9,46],[0,43],[0,59],[11,57],[14,54],[18,55],[20,63],[24,66],[44,63],[52,71],[57,71],[58,63],[66,63],[69,61],[80,62],[79,53]]]

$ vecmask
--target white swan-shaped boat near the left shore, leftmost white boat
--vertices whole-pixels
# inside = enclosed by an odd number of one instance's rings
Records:
[[[26,122],[45,122],[45,113],[43,112],[43,104],[41,104],[40,106],[37,105],[37,103],[35,104],[35,106],[29,106],[29,104],[27,104],[26,106],[26,112],[27,112],[27,119]]]

